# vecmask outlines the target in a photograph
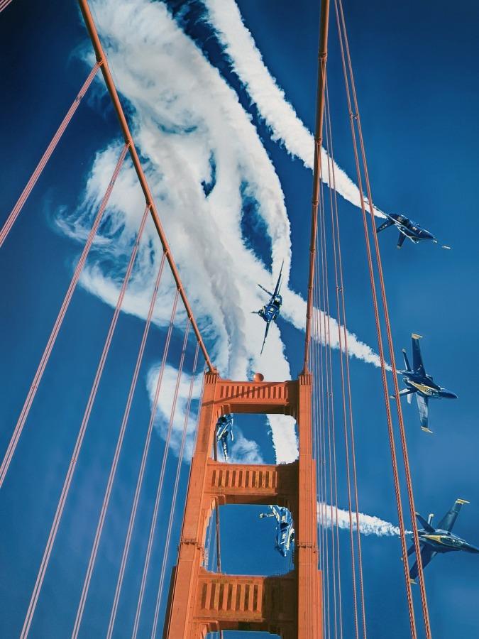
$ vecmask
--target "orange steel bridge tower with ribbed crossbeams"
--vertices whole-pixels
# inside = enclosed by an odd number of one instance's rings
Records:
[[[299,459],[280,466],[214,461],[216,421],[226,413],[292,415],[299,432]],[[281,577],[249,577],[205,569],[205,537],[216,503],[277,503],[290,508],[296,531],[292,571]],[[221,630],[263,630],[283,639],[321,639],[316,517],[312,377],[235,382],[207,372],[163,638],[199,639]]]

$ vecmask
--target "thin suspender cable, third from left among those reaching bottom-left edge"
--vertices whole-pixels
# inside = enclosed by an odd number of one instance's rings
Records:
[[[123,586],[123,577],[125,575],[125,568],[126,568],[126,562],[128,560],[128,553],[130,552],[131,535],[133,534],[133,526],[135,525],[135,520],[136,520],[136,511],[138,509],[138,500],[140,498],[141,487],[143,486],[143,476],[145,474],[146,459],[148,457],[148,451],[150,449],[151,434],[153,432],[153,423],[155,422],[156,409],[158,407],[158,398],[160,397],[160,388],[163,381],[163,373],[165,372],[167,354],[170,349],[171,334],[173,331],[173,324],[175,322],[175,315],[176,315],[179,295],[180,295],[180,292],[176,290],[175,299],[173,300],[173,305],[172,305],[170,326],[168,327],[168,332],[165,339],[165,346],[163,349],[163,359],[161,361],[160,371],[158,373],[158,380],[157,380],[156,388],[155,388],[155,398],[153,399],[153,405],[150,412],[150,422],[148,423],[148,431],[145,437],[145,444],[143,445],[143,454],[141,457],[140,469],[138,471],[138,479],[136,481],[135,495],[133,496],[133,503],[131,506],[130,520],[128,521],[128,530],[126,532],[125,544],[123,546],[123,554],[121,555],[120,571],[119,571],[118,579],[116,580],[114,601],[111,606],[108,630],[106,631],[107,639],[111,639],[111,635],[113,634],[113,629],[115,625],[116,612],[118,610],[118,603],[120,599],[121,588]]]

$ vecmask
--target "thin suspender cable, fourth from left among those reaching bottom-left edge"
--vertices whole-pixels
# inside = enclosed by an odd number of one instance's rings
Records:
[[[158,510],[160,508],[161,495],[163,493],[163,482],[165,481],[165,471],[168,459],[168,453],[170,452],[170,439],[173,429],[173,422],[175,420],[176,404],[178,400],[178,392],[180,391],[181,376],[183,372],[183,364],[185,364],[185,354],[188,344],[189,334],[189,320],[185,327],[185,337],[183,338],[183,346],[180,356],[180,365],[178,366],[178,373],[175,384],[175,391],[173,393],[172,406],[170,411],[170,422],[168,422],[168,430],[165,438],[165,448],[163,449],[163,459],[161,461],[160,477],[158,479],[158,488],[156,489],[155,506],[153,507],[153,515],[151,517],[150,535],[148,535],[148,545],[146,547],[145,561],[143,562],[143,574],[141,575],[141,586],[138,593],[138,603],[136,604],[135,621],[133,623],[133,633],[131,633],[131,639],[136,639],[138,635],[138,626],[140,623],[141,608],[143,606],[143,596],[145,595],[146,578],[148,577],[148,570],[150,569],[151,551],[153,549],[153,537],[155,536],[155,529],[158,523]]]

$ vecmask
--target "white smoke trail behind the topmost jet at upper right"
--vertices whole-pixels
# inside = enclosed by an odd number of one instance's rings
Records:
[[[296,111],[287,102],[285,92],[278,87],[263,56],[255,45],[253,36],[243,23],[243,18],[234,0],[203,0],[207,7],[209,22],[213,26],[233,71],[248,91],[258,108],[260,117],[272,133],[272,139],[281,141],[288,153],[302,160],[307,168],[313,168],[314,136]],[[313,94],[313,92],[312,92]],[[327,166],[327,153],[321,148],[323,166]],[[334,163],[336,190],[356,207],[360,207],[360,192],[349,176]],[[327,172],[322,176],[328,184]],[[385,217],[379,209],[374,209],[377,217]]]

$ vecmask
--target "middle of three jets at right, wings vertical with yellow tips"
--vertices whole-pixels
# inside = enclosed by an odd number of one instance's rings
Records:
[[[406,384],[407,388],[400,391],[400,395],[407,395],[407,403],[411,403],[412,393],[416,393],[417,408],[419,408],[419,420],[421,421],[421,428],[424,432],[432,432],[428,426],[429,398],[433,399],[456,399],[457,395],[446,391],[446,388],[441,388],[434,381],[432,376],[427,375],[422,363],[421,349],[419,348],[419,339],[422,339],[421,335],[412,333],[412,368],[409,366],[409,360],[407,359],[406,350],[402,349],[404,356],[404,364],[406,364],[405,371],[397,371],[404,375],[402,381]],[[395,399],[395,395],[391,395],[392,399]]]

